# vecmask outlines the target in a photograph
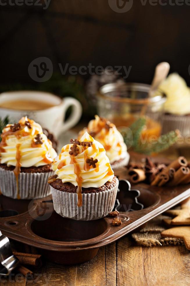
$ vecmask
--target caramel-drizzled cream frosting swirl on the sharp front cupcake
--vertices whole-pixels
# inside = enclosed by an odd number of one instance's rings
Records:
[[[81,187],[101,187],[114,177],[105,149],[87,132],[76,140],[76,144],[67,144],[62,148],[52,169],[63,183],[78,186],[77,193],[81,192]]]

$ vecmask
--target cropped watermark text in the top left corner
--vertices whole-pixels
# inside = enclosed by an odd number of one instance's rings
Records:
[[[41,6],[44,10],[49,7],[51,0],[0,0],[0,6]],[[44,2],[44,3],[43,3]]]

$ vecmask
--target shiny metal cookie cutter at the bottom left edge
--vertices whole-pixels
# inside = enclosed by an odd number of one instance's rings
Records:
[[[12,254],[8,237],[0,231],[0,275],[9,275],[18,264],[19,260]]]

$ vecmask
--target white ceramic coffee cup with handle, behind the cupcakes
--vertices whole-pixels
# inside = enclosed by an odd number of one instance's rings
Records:
[[[1,103],[3,102],[16,100],[46,102],[53,106],[42,110],[19,110],[1,107]],[[70,106],[72,107],[72,112],[65,121],[65,113]],[[64,97],[61,99],[56,95],[41,91],[24,90],[0,94],[0,117],[2,119],[9,116],[10,120],[18,122],[21,117],[26,115],[58,137],[62,132],[72,128],[78,123],[82,115],[82,106],[80,102],[73,97]]]

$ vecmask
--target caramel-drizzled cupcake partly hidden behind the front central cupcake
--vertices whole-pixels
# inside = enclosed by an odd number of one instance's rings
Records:
[[[86,131],[103,145],[113,169],[128,165],[129,154],[127,146],[123,141],[121,133],[113,123],[95,115],[95,119],[91,120],[88,126],[79,132],[79,137]]]

